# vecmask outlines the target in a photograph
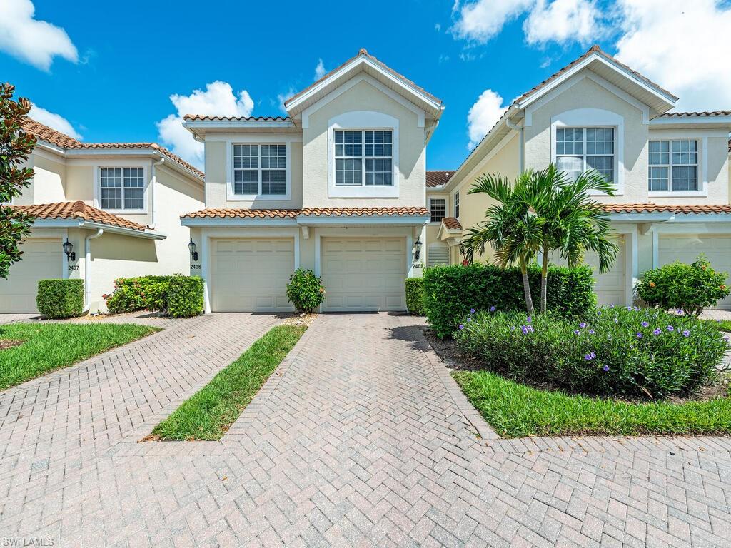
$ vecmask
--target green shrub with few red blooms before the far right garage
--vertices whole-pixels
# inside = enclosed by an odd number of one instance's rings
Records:
[[[650,306],[665,311],[677,308],[698,316],[703,308],[728,297],[726,278],[727,273],[716,272],[700,255],[692,265],[676,261],[648,270],[637,283],[637,294]]]

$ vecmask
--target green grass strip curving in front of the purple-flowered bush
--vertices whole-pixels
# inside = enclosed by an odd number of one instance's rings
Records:
[[[731,398],[627,403],[518,384],[489,371],[455,371],[472,405],[505,438],[526,435],[727,435]]]

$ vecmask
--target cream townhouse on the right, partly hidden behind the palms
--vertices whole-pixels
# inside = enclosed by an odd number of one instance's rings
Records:
[[[483,221],[490,205],[484,195],[468,196],[474,180],[485,173],[512,179],[553,161],[574,176],[599,170],[616,185],[613,197],[596,197],[620,244],[610,272],[596,275],[599,302],[632,304],[645,270],[701,253],[731,273],[731,112],[670,112],[677,100],[591,47],[515,99],[438,189],[447,214],[427,247],[446,243],[450,262],[461,262],[463,227]],[[596,266],[596,257],[586,261]],[[731,298],[719,307],[731,308]]]

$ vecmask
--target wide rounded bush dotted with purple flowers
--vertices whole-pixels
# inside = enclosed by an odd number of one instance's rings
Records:
[[[709,322],[640,308],[599,308],[583,321],[476,312],[454,336],[463,350],[518,380],[653,398],[715,380],[731,349],[728,335]]]

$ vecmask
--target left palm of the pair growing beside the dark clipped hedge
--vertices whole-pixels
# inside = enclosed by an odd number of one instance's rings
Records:
[[[468,194],[487,194],[498,204],[486,212],[487,220],[468,229],[462,238],[460,248],[468,262],[474,254],[485,254],[489,244],[496,250],[495,259],[499,265],[507,267],[518,262],[523,275],[523,292],[526,297],[526,310],[534,310],[531,297],[531,284],[528,278],[528,265],[542,243],[540,219],[531,211],[529,198],[530,172],[518,175],[513,185],[500,175],[482,175],[474,183]]]

